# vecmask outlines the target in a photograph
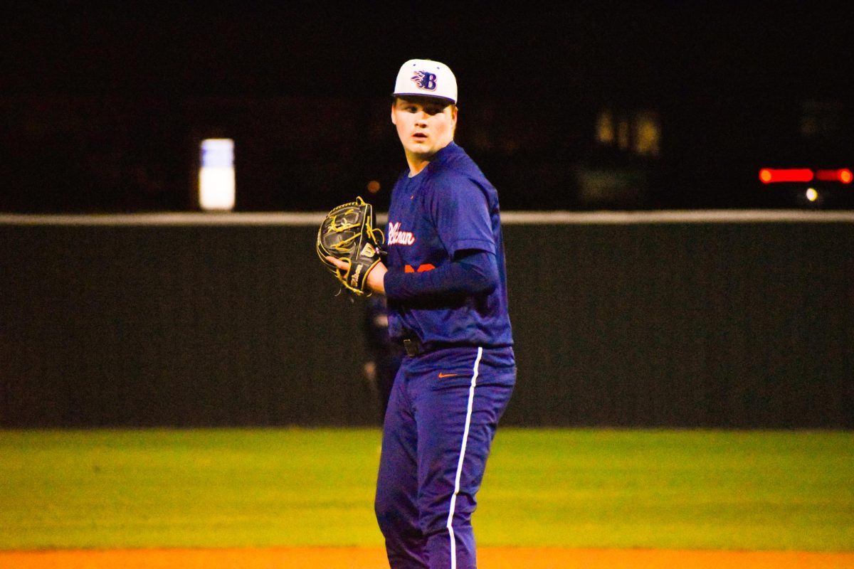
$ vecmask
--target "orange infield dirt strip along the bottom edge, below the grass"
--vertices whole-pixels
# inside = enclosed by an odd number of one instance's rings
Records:
[[[483,569],[844,569],[854,553],[483,548]],[[110,549],[0,552],[4,569],[382,569],[377,548]]]

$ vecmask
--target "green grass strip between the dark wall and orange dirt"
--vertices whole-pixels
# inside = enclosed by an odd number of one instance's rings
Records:
[[[0,549],[382,545],[380,434],[0,431]],[[500,430],[483,546],[854,550],[854,433]]]

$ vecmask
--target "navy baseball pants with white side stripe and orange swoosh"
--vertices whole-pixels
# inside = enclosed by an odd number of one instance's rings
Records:
[[[477,566],[471,514],[516,381],[512,362],[510,348],[474,347],[403,359],[375,502],[392,569]]]

